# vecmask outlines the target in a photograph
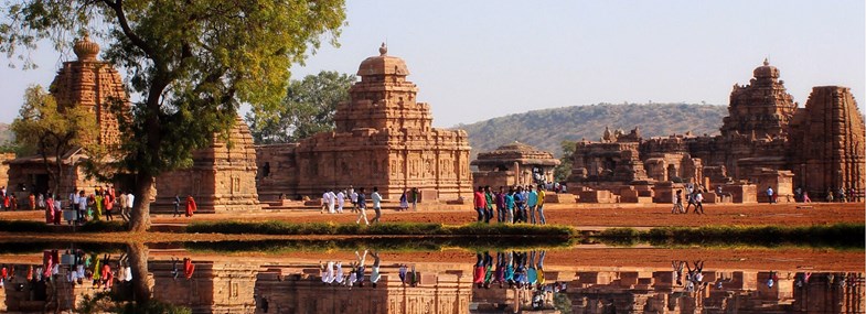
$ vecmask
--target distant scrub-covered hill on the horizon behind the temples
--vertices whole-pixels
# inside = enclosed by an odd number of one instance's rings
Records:
[[[534,110],[509,115],[471,124],[458,124],[469,133],[472,159],[479,152],[496,149],[513,141],[562,154],[560,142],[582,138],[598,141],[608,126],[627,133],[639,127],[643,138],[692,131],[718,134],[727,106],[689,104],[587,105]]]

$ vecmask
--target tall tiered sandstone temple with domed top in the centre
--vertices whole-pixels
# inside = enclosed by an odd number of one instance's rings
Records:
[[[466,131],[432,128],[430,106],[417,101],[418,87],[407,75],[406,63],[389,56],[383,44],[378,56],[359,66],[361,80],[349,89],[351,100],[338,105],[334,131],[257,147],[260,198],[299,198],[349,186],[367,193],[378,187],[386,198],[413,187],[423,197],[469,197]]]

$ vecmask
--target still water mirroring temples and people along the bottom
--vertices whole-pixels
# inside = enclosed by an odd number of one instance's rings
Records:
[[[18,243],[0,246],[0,312],[71,313],[101,294],[131,300],[137,258],[147,260],[153,299],[193,313],[863,313],[866,305],[862,270],[659,264],[640,255],[631,264],[578,267],[563,250],[163,243],[141,257],[124,245]]]

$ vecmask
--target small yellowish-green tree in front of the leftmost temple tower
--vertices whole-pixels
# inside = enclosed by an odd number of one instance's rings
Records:
[[[83,107],[58,108],[54,97],[39,85],[24,91],[24,105],[11,129],[17,147],[42,156],[54,193],[60,193],[63,182],[64,155],[75,149],[101,153],[96,152],[100,150],[95,144],[99,128],[94,113]]]

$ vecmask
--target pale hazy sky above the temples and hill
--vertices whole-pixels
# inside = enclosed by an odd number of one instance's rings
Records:
[[[387,41],[439,127],[596,102],[727,105],[765,57],[801,107],[812,86],[843,85],[866,108],[863,0],[348,2],[341,47],[293,78],[355,73]],[[68,56],[43,45],[33,58],[39,69],[0,68],[0,122]]]

